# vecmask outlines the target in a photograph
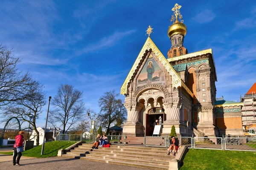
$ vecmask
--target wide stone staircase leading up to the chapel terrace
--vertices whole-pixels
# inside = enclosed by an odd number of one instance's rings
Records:
[[[62,156],[151,170],[168,170],[169,161],[175,158],[166,155],[166,148],[111,145],[91,149],[91,146],[92,144],[79,145]]]

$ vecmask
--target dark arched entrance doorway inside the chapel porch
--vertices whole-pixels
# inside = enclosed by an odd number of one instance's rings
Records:
[[[151,108],[146,114],[146,136],[152,136],[154,132],[154,122],[156,119],[159,122],[159,118],[162,118],[162,123],[166,121],[166,113],[163,108]]]

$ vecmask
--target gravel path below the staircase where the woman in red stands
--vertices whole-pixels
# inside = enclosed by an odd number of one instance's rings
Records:
[[[128,167],[65,157],[26,159],[20,160],[20,164],[22,166],[13,166],[12,161],[0,162],[0,170],[145,170],[139,167]]]

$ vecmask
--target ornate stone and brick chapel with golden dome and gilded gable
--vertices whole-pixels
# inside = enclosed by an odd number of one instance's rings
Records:
[[[128,112],[123,125],[127,135],[152,136],[154,121],[160,117],[162,135],[169,135],[172,125],[181,136],[221,134],[215,113],[217,75],[212,49],[188,54],[180,7],[172,8],[167,57],[151,40],[149,26],[148,38],[121,87]]]

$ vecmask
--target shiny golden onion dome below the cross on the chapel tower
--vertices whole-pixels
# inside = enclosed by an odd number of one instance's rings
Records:
[[[176,18],[175,23],[169,26],[167,35],[169,38],[172,37],[173,34],[183,34],[185,36],[186,31],[187,31],[186,25],[183,23],[180,23]]]

